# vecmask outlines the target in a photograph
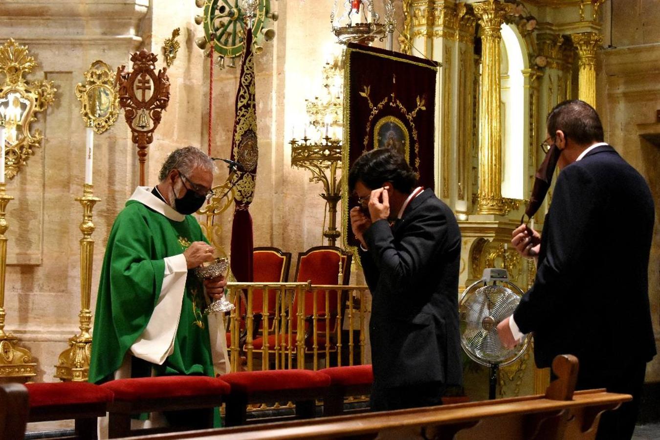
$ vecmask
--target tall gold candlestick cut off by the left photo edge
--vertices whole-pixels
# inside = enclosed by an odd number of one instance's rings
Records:
[[[5,275],[7,273],[7,237],[5,237],[5,232],[9,228],[5,213],[7,212],[7,204],[14,199],[11,195],[7,195],[6,190],[6,184],[0,183],[0,380],[3,382],[25,382],[36,375],[37,364],[32,362],[30,350],[18,346],[18,338],[5,332],[5,315],[7,315],[5,313]]]

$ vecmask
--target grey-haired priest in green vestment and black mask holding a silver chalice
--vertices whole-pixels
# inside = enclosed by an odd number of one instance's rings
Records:
[[[89,381],[207,375],[228,369],[222,315],[203,315],[226,280],[191,269],[214,248],[189,214],[213,193],[213,160],[187,146],[168,156],[160,183],[137,187],[112,226],[96,299]]]

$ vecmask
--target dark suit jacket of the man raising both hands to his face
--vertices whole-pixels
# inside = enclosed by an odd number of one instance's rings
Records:
[[[390,228],[375,222],[360,250],[372,293],[374,387],[462,385],[458,322],[461,232],[453,212],[426,189]]]

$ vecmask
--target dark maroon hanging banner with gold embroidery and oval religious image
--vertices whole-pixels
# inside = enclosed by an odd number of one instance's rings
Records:
[[[348,193],[348,170],[360,154],[393,148],[405,155],[420,185],[435,187],[439,63],[354,43],[347,45],[344,62],[342,236],[356,253],[348,212],[358,201]]]

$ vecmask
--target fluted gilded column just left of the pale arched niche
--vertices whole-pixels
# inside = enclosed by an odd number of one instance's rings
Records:
[[[508,4],[490,0],[474,5],[482,27],[482,71],[479,99],[479,214],[503,215],[502,199],[502,127],[500,106],[500,26],[510,10]]]

